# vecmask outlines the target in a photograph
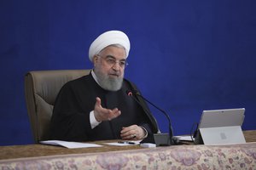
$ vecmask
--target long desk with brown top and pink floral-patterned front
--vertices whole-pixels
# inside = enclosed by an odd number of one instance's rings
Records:
[[[256,169],[256,131],[244,135],[247,144],[151,149],[106,144],[84,149],[44,144],[1,146],[0,169]]]

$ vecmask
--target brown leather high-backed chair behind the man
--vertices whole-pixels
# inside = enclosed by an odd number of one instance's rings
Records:
[[[90,70],[29,71],[25,76],[26,108],[35,143],[49,139],[49,123],[61,87]]]

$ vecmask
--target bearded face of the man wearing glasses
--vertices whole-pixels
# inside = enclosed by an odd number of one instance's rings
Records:
[[[122,87],[125,59],[125,48],[116,46],[108,46],[94,56],[94,71],[102,88],[117,91]]]

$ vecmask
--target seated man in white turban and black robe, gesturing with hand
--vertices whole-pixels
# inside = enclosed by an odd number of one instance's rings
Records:
[[[104,32],[91,43],[94,68],[61,88],[51,119],[51,139],[138,140],[158,131],[147,105],[127,95],[137,90],[124,78],[129,50],[129,38],[122,31]]]

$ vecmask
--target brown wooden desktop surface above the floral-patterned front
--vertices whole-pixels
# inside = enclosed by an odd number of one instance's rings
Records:
[[[256,130],[244,131],[243,133],[247,143],[256,142]],[[54,156],[54,155],[67,155],[67,154],[108,152],[108,151],[117,151],[117,150],[138,150],[138,149],[143,150],[144,149],[139,145],[113,146],[113,145],[108,145],[103,143],[106,143],[106,141],[94,142],[94,144],[102,144],[103,147],[79,148],[79,149],[67,149],[61,146],[53,146],[53,145],[45,145],[45,144],[0,146],[0,160],[21,158],[21,157],[34,157],[34,156]]]

